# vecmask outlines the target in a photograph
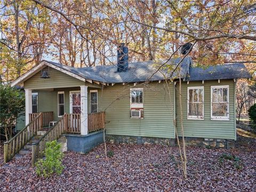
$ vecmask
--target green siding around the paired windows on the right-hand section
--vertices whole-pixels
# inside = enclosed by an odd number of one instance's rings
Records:
[[[229,121],[211,120],[211,86],[229,85]],[[179,102],[179,83],[177,83],[176,111],[177,129],[181,136],[180,124],[180,102]],[[204,120],[187,119],[187,87],[204,86]],[[236,139],[236,120],[235,120],[235,83],[233,79],[200,82],[182,83],[182,111],[183,127],[185,137],[198,138],[217,138],[217,139]]]

